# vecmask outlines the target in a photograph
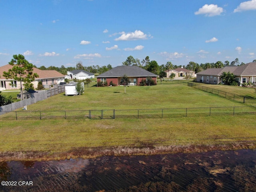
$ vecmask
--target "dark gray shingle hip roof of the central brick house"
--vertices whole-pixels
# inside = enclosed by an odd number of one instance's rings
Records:
[[[156,74],[151,73],[137,66],[117,66],[107,72],[98,75],[97,77],[122,77],[124,76],[124,74],[128,77],[157,76]]]

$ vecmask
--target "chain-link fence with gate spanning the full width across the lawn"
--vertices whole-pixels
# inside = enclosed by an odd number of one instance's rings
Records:
[[[1,115],[5,113],[4,115]],[[177,118],[215,115],[256,114],[256,106],[202,107],[202,108],[165,108],[165,109],[130,109],[130,110],[58,110],[58,111],[1,111],[0,119],[48,119],[48,118]]]

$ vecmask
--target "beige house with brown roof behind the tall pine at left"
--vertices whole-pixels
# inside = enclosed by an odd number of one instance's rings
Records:
[[[8,72],[13,66],[10,64],[4,65],[0,67],[0,90],[12,90],[12,89],[20,89],[20,82],[17,82],[13,79],[6,79],[3,76],[4,71]],[[59,73],[56,70],[40,70],[38,68],[33,68],[33,73],[38,74],[38,78],[33,81],[34,88],[37,88],[38,82],[42,82],[45,88],[50,88],[51,85],[60,84],[60,82],[64,82],[65,75]]]

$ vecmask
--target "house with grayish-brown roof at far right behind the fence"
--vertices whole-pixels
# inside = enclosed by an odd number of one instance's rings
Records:
[[[230,72],[236,76],[238,84],[256,82],[256,62],[240,66],[226,66],[224,68],[211,68],[196,74],[196,81],[209,84],[222,83],[223,72]]]

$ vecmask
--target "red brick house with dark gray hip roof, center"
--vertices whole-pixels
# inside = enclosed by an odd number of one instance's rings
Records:
[[[142,80],[151,77],[156,84],[157,75],[144,70],[138,66],[117,66],[111,70],[97,76],[97,82],[108,84],[112,81],[116,85],[120,85],[121,78],[126,75],[131,82],[130,85],[139,85]]]

